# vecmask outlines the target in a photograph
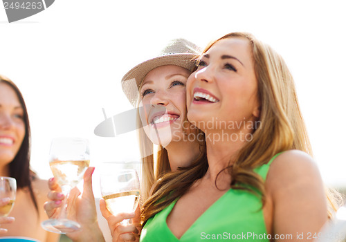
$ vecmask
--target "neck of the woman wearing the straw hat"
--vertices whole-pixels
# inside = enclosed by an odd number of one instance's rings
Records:
[[[199,143],[190,141],[171,142],[165,147],[172,171],[190,165],[199,156]]]

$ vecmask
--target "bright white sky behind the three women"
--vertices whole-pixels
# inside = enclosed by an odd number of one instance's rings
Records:
[[[8,24],[0,3],[0,73],[21,89],[32,128],[32,167],[51,177],[48,151],[57,136],[91,142],[91,165],[138,160],[136,132],[93,134],[108,116],[131,109],[120,80],[170,39],[204,47],[246,31],[288,64],[320,167],[329,185],[346,185],[345,1],[55,0]],[[98,183],[96,183],[98,185]]]

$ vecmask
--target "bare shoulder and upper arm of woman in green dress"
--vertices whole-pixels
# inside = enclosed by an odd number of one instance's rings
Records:
[[[290,150],[277,156],[265,185],[271,202],[266,218],[273,219],[268,223],[273,234],[314,234],[327,222],[322,178],[307,153]]]

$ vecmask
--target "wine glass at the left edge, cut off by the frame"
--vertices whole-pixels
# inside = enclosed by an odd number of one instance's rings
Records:
[[[15,205],[17,192],[16,179],[0,176],[0,216],[8,216]]]

